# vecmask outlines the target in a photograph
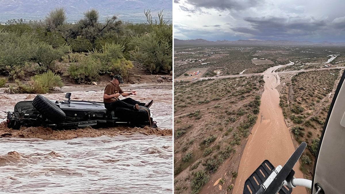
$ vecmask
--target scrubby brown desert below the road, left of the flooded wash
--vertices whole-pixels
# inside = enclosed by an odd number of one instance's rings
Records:
[[[232,188],[238,166],[231,161],[239,161],[258,118],[263,86],[262,76],[175,83],[176,193],[198,193],[225,163],[219,174]]]

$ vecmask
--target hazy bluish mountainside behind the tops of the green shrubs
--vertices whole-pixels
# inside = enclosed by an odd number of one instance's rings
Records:
[[[164,9],[165,20],[172,22],[172,0],[0,0],[0,23],[11,19],[43,20],[57,8],[66,10],[68,22],[78,21],[83,13],[92,8],[100,19],[114,14],[122,21],[145,22],[144,9],[151,9],[153,19]]]

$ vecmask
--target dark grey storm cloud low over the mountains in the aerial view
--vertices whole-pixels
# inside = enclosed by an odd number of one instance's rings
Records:
[[[289,37],[312,35],[315,31],[328,27],[327,21],[314,18],[247,17],[244,20],[251,27],[233,27],[231,30],[261,37]]]

